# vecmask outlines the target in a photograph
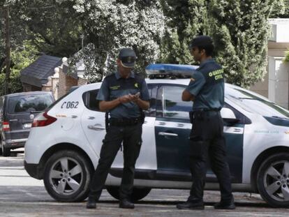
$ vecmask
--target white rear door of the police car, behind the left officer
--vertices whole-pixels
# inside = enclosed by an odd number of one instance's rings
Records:
[[[153,89],[154,86],[149,87],[150,94],[152,94]],[[87,137],[87,140],[99,157],[106,130],[105,112],[100,112],[98,109],[98,100],[96,100],[97,93],[98,89],[94,89],[85,92],[82,96],[86,106],[82,114],[82,128],[84,129],[84,134]],[[154,102],[155,100],[156,98],[152,99],[151,102]],[[146,112],[144,124],[142,125],[142,147],[140,150],[140,156],[135,165],[136,171],[140,171],[140,173],[142,170],[156,170],[155,137],[152,136],[154,135],[155,119],[155,107],[154,109],[151,107]],[[116,177],[121,177],[123,166],[124,157],[122,150],[119,149],[117,156],[112,163],[110,174],[113,174]]]

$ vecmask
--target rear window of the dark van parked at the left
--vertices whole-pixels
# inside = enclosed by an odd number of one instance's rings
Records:
[[[53,103],[50,94],[12,96],[8,99],[8,113],[40,112]]]

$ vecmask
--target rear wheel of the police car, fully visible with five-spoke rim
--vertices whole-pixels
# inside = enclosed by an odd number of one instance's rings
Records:
[[[76,151],[53,154],[45,165],[43,181],[47,192],[61,202],[80,202],[89,193],[91,166]]]

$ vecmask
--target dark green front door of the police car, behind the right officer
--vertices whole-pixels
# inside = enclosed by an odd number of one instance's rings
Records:
[[[188,112],[192,102],[181,100],[184,86],[165,84],[158,88],[156,105],[156,155],[158,163],[158,179],[179,181],[191,180],[189,170],[189,141],[191,123]],[[226,104],[226,107],[232,107]],[[228,163],[232,181],[242,181],[242,156],[244,118],[236,112],[238,124],[225,123],[224,133],[227,141]],[[207,165],[207,181],[216,181],[209,162]]]

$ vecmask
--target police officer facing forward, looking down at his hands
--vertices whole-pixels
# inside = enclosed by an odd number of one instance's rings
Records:
[[[101,147],[98,166],[91,180],[87,209],[95,209],[96,202],[108,177],[112,162],[123,142],[124,170],[119,188],[119,207],[133,209],[130,200],[133,190],[135,161],[137,160],[142,143],[142,110],[149,108],[149,91],[142,77],[135,75],[135,52],[123,48],[117,59],[116,73],[105,77],[96,97],[100,100],[99,108],[110,114],[107,133]]]

